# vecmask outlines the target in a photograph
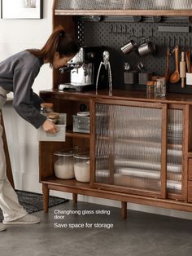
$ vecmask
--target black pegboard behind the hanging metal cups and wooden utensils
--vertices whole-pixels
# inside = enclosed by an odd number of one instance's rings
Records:
[[[163,33],[158,31],[159,25],[162,23],[151,22],[89,22],[79,21],[78,28],[81,33],[78,33],[78,38],[81,41],[81,46],[107,46],[111,55],[111,71],[113,78],[113,85],[116,88],[129,88],[124,85],[124,62],[131,64],[132,70],[137,70],[137,62],[142,61],[146,71],[151,71],[154,75],[164,76],[166,67],[166,49],[170,46],[171,49],[175,45],[180,46],[181,51],[187,50],[191,47],[192,33]],[[164,24],[164,23],[163,23]],[[166,23],[167,26],[189,26],[191,31],[192,24],[181,24],[180,22]],[[82,29],[83,28],[83,29]],[[78,30],[78,29],[77,29]],[[139,37],[150,38],[156,46],[154,55],[141,56],[136,52],[131,52],[128,55],[120,51],[120,47],[129,39],[142,42]],[[175,69],[174,54],[170,57],[170,73]],[[145,86],[131,86],[132,90],[145,90]],[[181,88],[181,82],[177,84],[169,84],[168,91],[183,92],[192,94],[192,86],[185,86]]]

